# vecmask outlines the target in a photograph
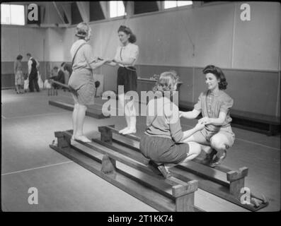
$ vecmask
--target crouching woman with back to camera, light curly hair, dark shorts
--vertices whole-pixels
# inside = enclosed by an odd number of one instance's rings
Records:
[[[199,144],[183,141],[204,128],[203,123],[198,123],[193,129],[181,130],[178,106],[170,100],[177,81],[176,73],[161,73],[154,87],[157,98],[147,105],[147,129],[139,144],[142,154],[159,165],[164,177],[169,176],[169,167],[193,160],[200,154]]]

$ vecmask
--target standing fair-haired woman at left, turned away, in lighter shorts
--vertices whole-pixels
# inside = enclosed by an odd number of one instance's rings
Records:
[[[95,82],[93,70],[110,62],[110,59],[97,61],[93,57],[90,44],[91,28],[82,22],[76,27],[78,40],[72,44],[70,54],[72,57],[72,73],[69,78],[69,88],[74,98],[74,111],[72,114],[73,135],[71,139],[91,142],[83,133],[85,113],[87,105],[93,105],[95,95]]]

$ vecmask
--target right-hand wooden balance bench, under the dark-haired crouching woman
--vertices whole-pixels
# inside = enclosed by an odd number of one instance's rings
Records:
[[[132,134],[122,135],[114,128],[114,125],[100,126],[98,131],[101,132],[101,140],[93,139],[93,141],[118,153],[130,156],[144,165],[149,164],[149,160],[140,153],[139,137]],[[113,138],[113,133],[117,134],[116,139]],[[241,194],[241,189],[243,189],[245,178],[248,175],[247,167],[235,170],[224,165],[218,165],[212,168],[208,165],[203,165],[199,160],[193,160],[172,167],[170,171],[173,177],[185,182],[190,179],[196,179],[200,189],[248,210],[256,211],[268,206],[268,201],[264,196],[257,196],[252,192],[251,203],[241,203],[241,196],[243,195]]]

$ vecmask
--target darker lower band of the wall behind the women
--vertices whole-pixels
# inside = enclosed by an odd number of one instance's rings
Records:
[[[59,66],[62,62],[40,62],[40,73],[42,80],[50,74],[50,69],[53,66]],[[137,65],[137,76],[142,78],[149,78],[154,74],[160,74],[164,71],[175,70],[180,76],[183,84],[180,86],[179,99],[187,102],[197,102],[197,97],[205,87],[205,77],[202,74],[202,68],[194,69],[183,66],[148,66]],[[226,75],[226,81],[229,83],[225,90],[233,99],[233,109],[241,110],[243,112],[254,112],[258,114],[267,114],[270,116],[280,117],[280,103],[277,100],[279,73],[277,71],[250,71],[250,70],[235,70],[223,69]],[[27,72],[27,62],[23,62],[23,72]],[[104,75],[104,90],[116,91],[117,85],[117,67],[102,66],[96,70],[95,73],[102,73]],[[1,81],[3,76],[10,74],[10,81],[13,75],[13,62],[1,62]],[[2,78],[3,77],[3,78]],[[5,77],[7,80],[8,77]],[[5,87],[5,82],[1,84],[1,88]],[[194,95],[193,95],[194,93]],[[280,95],[280,92],[278,93]],[[279,99],[280,101],[280,99]]]

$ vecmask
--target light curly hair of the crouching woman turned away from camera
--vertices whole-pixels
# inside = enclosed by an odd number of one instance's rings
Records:
[[[161,73],[156,82],[153,91],[159,96],[163,97],[164,92],[170,92],[173,95],[173,88],[178,83],[178,76],[176,71],[165,71]]]

